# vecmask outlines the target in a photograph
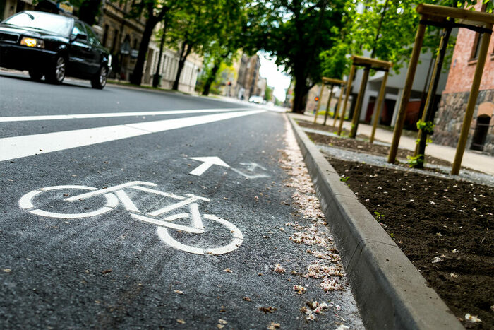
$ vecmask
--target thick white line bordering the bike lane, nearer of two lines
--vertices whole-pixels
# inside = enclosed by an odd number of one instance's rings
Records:
[[[203,116],[157,120],[136,124],[76,129],[45,134],[13,136],[0,139],[0,161],[12,160],[39,153],[51,153],[80,146],[115,141],[183,127],[219,122],[221,120],[258,114],[265,110],[206,114]]]

